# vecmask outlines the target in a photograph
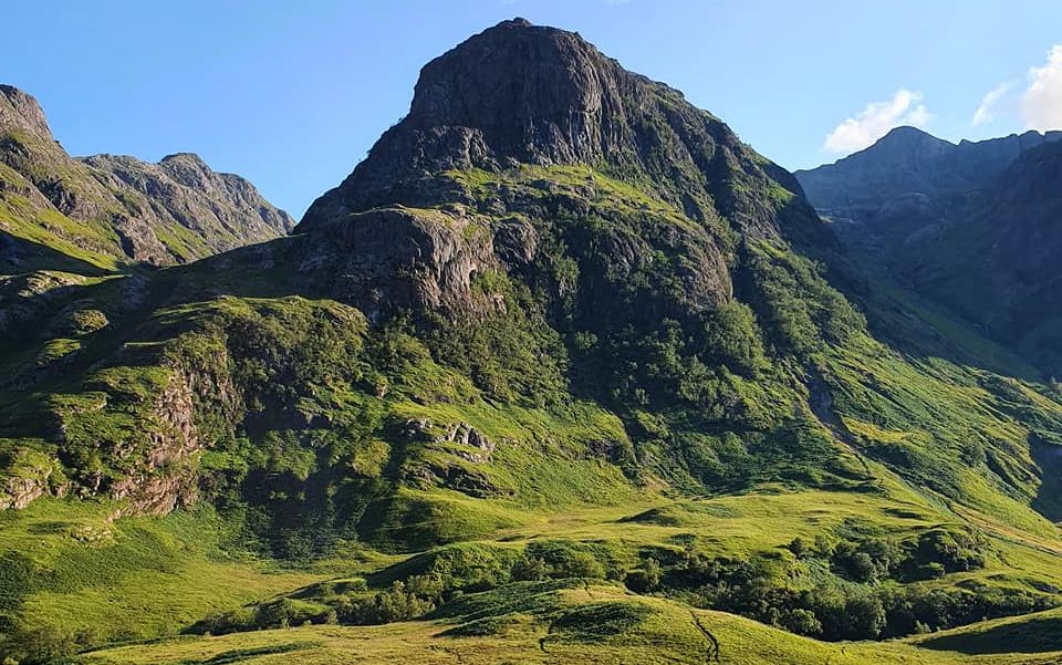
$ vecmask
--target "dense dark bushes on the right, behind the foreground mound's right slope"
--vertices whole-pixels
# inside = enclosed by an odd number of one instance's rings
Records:
[[[926,571],[983,565],[976,533],[933,529],[913,543],[882,538],[856,541],[794,539],[799,559],[835,573],[810,589],[794,589],[778,559],[710,558],[693,550],[662,564],[649,559],[627,574],[638,593],[663,592],[690,604],[748,616],[822,640],[877,640],[1043,610],[1050,596],[1007,589],[929,589],[902,584]],[[943,573],[941,573],[943,574]]]

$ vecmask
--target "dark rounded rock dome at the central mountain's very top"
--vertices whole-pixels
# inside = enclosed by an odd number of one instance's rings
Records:
[[[478,128],[485,156],[500,163],[587,160],[625,147],[624,96],[636,89],[579,34],[517,19],[429,62],[407,120]]]

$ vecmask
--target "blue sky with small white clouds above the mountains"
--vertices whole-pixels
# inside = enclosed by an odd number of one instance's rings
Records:
[[[425,62],[514,15],[579,31],[791,169],[899,123],[1062,128],[1058,0],[33,0],[4,7],[0,82],[75,155],[196,152],[298,217]]]

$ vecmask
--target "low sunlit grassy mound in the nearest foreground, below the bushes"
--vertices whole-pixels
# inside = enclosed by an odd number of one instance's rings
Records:
[[[469,595],[462,614],[377,627],[309,626],[180,638],[106,650],[80,662],[110,663],[1047,663],[1052,645],[999,655],[927,648],[927,642],[827,644],[738,616],[689,610],[612,585],[533,584],[502,601]],[[1001,642],[998,645],[1003,646]],[[969,644],[964,645],[968,647]],[[1010,645],[1013,648],[1014,645]],[[1058,645],[1053,645],[1056,647]],[[989,647],[991,648],[991,647]],[[1009,650],[1008,650],[1009,651]],[[1031,653],[1030,653],[1031,652]],[[987,653],[991,655],[977,655]]]

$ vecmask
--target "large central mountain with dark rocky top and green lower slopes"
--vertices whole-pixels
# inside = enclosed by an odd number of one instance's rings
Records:
[[[844,247],[576,33],[473,35],[294,233],[20,282],[0,652],[959,663],[1043,633],[1062,397],[924,306],[887,314],[970,362],[883,342]]]

